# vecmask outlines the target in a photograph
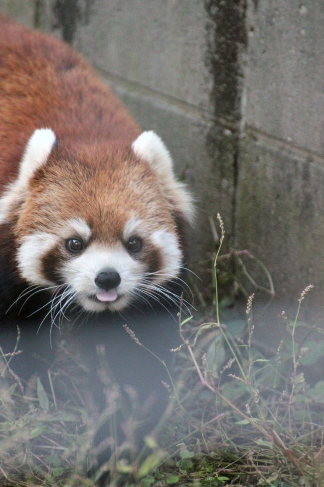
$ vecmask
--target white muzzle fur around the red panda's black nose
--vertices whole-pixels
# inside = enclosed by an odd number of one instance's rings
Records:
[[[91,299],[97,295],[99,288],[95,279],[99,272],[107,267],[113,268],[121,277],[121,283],[115,289],[118,299],[109,304]],[[86,250],[70,259],[61,270],[61,275],[76,292],[77,301],[88,311],[120,310],[124,308],[136,293],[136,287],[143,278],[145,266],[132,259],[122,244],[106,247],[93,243]]]

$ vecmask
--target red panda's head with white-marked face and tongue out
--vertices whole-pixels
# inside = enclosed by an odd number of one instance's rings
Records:
[[[183,258],[176,218],[188,218],[191,208],[161,162],[164,146],[160,166],[150,160],[160,143],[145,132],[132,148],[62,154],[51,146],[31,171],[15,202],[16,261],[20,275],[47,288],[57,307],[62,297],[87,311],[117,311],[169,292],[164,284],[177,277]]]

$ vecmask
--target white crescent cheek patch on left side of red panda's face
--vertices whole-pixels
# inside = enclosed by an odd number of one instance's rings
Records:
[[[53,284],[42,275],[41,260],[59,242],[51,233],[38,232],[22,238],[17,250],[18,269],[21,276],[32,284]]]

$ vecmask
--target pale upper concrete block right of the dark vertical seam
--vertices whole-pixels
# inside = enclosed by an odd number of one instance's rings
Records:
[[[247,124],[324,155],[323,0],[251,1],[248,22]]]

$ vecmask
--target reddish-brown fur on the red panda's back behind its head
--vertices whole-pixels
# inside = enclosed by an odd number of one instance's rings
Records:
[[[2,187],[16,175],[36,128],[52,128],[60,148],[70,151],[80,142],[118,140],[130,145],[140,134],[121,102],[82,56],[54,37],[30,31],[3,15],[0,99]]]

